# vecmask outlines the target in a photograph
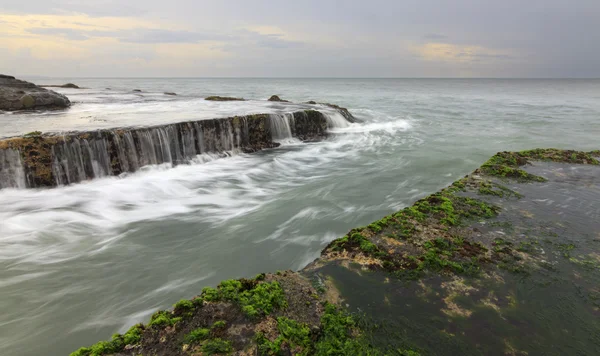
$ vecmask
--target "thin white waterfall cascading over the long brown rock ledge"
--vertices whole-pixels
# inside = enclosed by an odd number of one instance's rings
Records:
[[[341,114],[303,110],[143,128],[0,140],[0,188],[35,188],[118,176],[149,165],[179,165],[314,141],[344,127]]]

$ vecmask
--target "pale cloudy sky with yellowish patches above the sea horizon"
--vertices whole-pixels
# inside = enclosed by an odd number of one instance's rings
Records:
[[[599,0],[0,0],[0,73],[600,77]]]

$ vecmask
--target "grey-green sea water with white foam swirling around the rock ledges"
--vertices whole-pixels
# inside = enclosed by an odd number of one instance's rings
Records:
[[[212,94],[327,101],[364,122],[300,143],[281,121],[273,150],[0,190],[2,355],[65,355],[222,279],[299,269],[496,151],[600,148],[599,80],[37,80],[68,81],[90,88],[59,89],[73,108],[0,115],[0,136],[281,114],[281,104],[201,99]]]

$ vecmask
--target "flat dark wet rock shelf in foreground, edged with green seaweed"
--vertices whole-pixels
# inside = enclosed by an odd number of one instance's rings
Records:
[[[72,356],[597,355],[598,156],[498,153],[299,272],[204,288]]]

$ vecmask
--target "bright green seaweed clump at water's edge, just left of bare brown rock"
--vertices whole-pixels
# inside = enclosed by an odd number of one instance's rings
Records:
[[[250,318],[269,315],[277,308],[287,307],[283,289],[278,282],[256,279],[226,280],[217,288],[206,287],[202,298],[207,302],[233,302]]]

